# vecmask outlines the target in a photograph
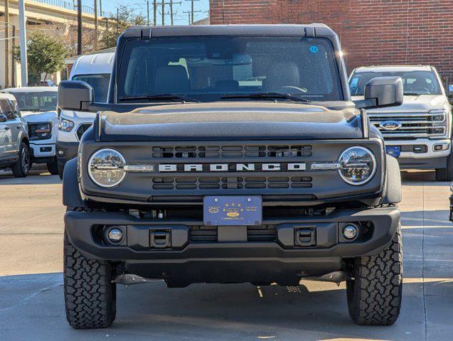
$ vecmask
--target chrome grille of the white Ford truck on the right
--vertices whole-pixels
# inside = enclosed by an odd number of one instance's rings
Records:
[[[445,115],[439,113],[368,113],[371,123],[386,139],[417,139],[419,137],[445,135]],[[385,129],[383,122],[395,121],[398,129]]]

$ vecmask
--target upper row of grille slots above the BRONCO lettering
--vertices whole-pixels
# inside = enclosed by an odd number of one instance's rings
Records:
[[[153,158],[297,158],[311,156],[309,145],[155,146]]]

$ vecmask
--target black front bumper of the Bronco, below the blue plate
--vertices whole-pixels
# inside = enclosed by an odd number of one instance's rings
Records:
[[[263,220],[275,227],[273,241],[197,242],[198,220],[139,219],[121,212],[67,212],[65,229],[72,244],[90,259],[125,261],[129,273],[183,283],[275,281],[276,278],[320,276],[341,269],[345,257],[377,254],[398,229],[395,207],[338,210],[327,216],[279,217]],[[346,242],[345,223],[371,223],[368,237]],[[103,239],[105,225],[118,225],[125,237],[117,245]],[[226,227],[228,229],[228,227]],[[247,227],[245,227],[247,228]],[[297,231],[314,231],[311,244],[296,242]],[[169,247],[153,247],[154,232],[169,233]],[[248,233],[248,232],[247,232]],[[220,234],[218,234],[220,235]],[[233,236],[234,240],[234,236]],[[179,285],[178,284],[178,285]]]

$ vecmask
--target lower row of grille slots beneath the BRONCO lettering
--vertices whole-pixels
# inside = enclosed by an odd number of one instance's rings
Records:
[[[152,178],[154,190],[240,190],[266,188],[311,188],[309,176],[162,176]]]

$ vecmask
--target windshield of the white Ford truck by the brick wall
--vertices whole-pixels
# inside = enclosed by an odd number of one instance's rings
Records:
[[[397,76],[403,80],[404,94],[442,94],[435,72],[356,72],[349,81],[352,96],[363,96],[363,89],[374,77]]]

